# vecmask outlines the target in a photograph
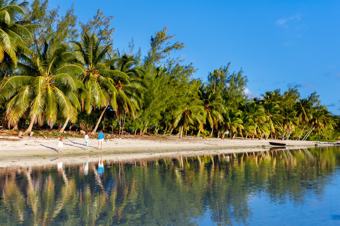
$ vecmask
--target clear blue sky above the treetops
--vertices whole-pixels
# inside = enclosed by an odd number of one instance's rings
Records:
[[[89,1],[50,0],[64,13],[74,2],[82,21],[98,8],[115,16],[114,46],[126,49],[133,36],[145,55],[150,37],[168,34],[186,43],[180,52],[192,62],[195,77],[226,65],[241,67],[250,97],[266,90],[299,86],[302,97],[314,91],[340,114],[340,1]]]

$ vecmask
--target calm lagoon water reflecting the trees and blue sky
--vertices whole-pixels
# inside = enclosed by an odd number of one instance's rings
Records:
[[[0,225],[340,225],[339,147],[61,162],[0,168]]]

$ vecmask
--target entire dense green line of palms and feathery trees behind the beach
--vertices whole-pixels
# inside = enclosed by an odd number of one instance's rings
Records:
[[[151,36],[142,57],[113,47],[112,16],[100,10],[87,23],[73,5],[59,18],[48,1],[0,1],[0,108],[3,128],[12,130],[79,126],[191,136],[245,139],[339,139],[340,117],[316,92],[307,98],[297,87],[266,91],[249,99],[242,69],[226,66],[194,79],[193,64],[173,52],[167,27]],[[78,24],[77,24],[78,23]],[[63,127],[62,127],[63,125]]]

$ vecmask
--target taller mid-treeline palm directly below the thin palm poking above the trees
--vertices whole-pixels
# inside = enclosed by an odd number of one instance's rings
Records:
[[[217,128],[218,122],[223,120],[222,113],[225,112],[223,100],[216,93],[203,86],[200,87],[198,94],[202,101],[201,106],[204,109],[204,123],[208,121],[211,128],[210,135],[212,135],[214,127]]]

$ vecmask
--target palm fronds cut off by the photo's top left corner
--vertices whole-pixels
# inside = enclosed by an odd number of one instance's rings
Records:
[[[32,54],[24,39],[31,38],[31,31],[39,25],[21,20],[29,2],[18,4],[17,0],[13,0],[8,5],[7,2],[0,0],[0,62],[7,58],[16,65],[18,52]]]

